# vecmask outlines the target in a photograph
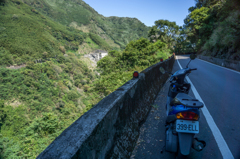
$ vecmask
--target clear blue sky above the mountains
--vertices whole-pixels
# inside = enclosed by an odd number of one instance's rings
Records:
[[[137,18],[147,26],[159,19],[182,26],[194,0],[83,0],[105,17]]]

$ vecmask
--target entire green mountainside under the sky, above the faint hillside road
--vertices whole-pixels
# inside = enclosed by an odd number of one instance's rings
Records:
[[[1,65],[54,57],[63,50],[119,50],[147,37],[149,29],[136,18],[104,17],[82,0],[6,2],[0,10]]]

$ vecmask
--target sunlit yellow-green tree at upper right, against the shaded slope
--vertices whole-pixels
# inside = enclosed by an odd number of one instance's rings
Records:
[[[231,1],[226,0],[195,0],[196,5],[190,7],[190,12],[184,20],[187,39],[198,51],[208,41],[219,22],[229,14]],[[228,8],[224,11],[222,8]]]

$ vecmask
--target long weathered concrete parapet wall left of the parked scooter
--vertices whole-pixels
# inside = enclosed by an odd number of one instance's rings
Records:
[[[171,71],[175,57],[157,63],[101,100],[62,132],[38,159],[129,158],[151,104]],[[164,130],[163,130],[164,131]]]

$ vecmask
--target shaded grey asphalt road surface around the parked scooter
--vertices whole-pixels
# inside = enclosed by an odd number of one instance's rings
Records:
[[[188,56],[178,56],[183,68],[189,61]],[[197,68],[189,78],[204,101],[210,115],[218,127],[223,139],[235,159],[240,159],[240,73],[195,59],[189,65]],[[173,72],[180,67],[175,61]],[[159,92],[150,114],[140,130],[138,144],[132,153],[132,159],[173,159],[174,154],[163,151],[165,145],[165,104],[169,82]],[[192,91],[189,93],[194,97]],[[191,150],[189,159],[221,159],[221,144],[216,142],[207,120],[201,112],[199,121],[201,140],[207,142],[201,152]],[[210,125],[211,126],[211,125]],[[217,138],[218,139],[218,138]]]

